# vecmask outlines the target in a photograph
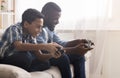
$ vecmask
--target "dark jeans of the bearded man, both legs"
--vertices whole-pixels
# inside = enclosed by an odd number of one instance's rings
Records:
[[[84,56],[64,54],[59,59],[51,59],[50,63],[60,69],[62,78],[72,78],[69,66],[70,63],[74,66],[74,78],[86,78]]]

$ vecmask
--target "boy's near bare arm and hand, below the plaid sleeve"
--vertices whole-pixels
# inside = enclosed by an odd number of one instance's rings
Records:
[[[50,53],[55,53],[59,47],[58,45],[54,44],[32,44],[32,43],[22,43],[21,41],[15,41],[13,43],[16,50],[19,51],[39,51],[39,50],[46,50]]]

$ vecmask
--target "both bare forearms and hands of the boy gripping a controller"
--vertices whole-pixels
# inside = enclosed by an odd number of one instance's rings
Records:
[[[37,58],[41,61],[46,61],[50,58],[59,58],[61,56],[60,52],[56,52],[59,45],[55,44],[31,44],[22,43],[21,41],[15,41],[14,46],[19,51],[33,51]],[[48,54],[43,54],[40,50],[47,50]]]

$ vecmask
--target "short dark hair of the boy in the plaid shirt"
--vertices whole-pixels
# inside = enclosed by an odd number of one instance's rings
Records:
[[[22,14],[22,25],[25,21],[31,24],[36,18],[44,18],[44,15],[36,9],[27,9]]]

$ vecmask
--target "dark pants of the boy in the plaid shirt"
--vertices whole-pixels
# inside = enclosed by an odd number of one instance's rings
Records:
[[[30,52],[16,52],[2,60],[4,64],[15,65],[27,71],[42,71],[50,67],[49,61],[42,62],[37,60]]]

